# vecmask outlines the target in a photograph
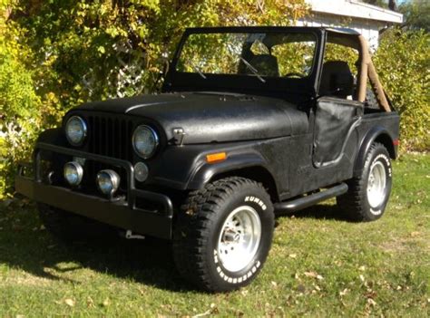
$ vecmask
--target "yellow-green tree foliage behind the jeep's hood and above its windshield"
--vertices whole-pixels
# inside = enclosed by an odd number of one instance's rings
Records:
[[[185,27],[289,24],[303,0],[23,1],[16,20],[42,66],[44,90],[67,109],[88,100],[151,92]]]

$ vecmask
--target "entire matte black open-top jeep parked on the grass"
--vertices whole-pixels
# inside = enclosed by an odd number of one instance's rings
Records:
[[[336,197],[346,217],[381,217],[398,130],[357,32],[194,28],[160,94],[69,111],[15,188],[57,236],[169,239],[181,275],[229,291],[259,273],[277,214]]]

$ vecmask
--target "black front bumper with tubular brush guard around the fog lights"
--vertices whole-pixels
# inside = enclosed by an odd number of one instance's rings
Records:
[[[40,150],[92,159],[126,169],[128,179],[127,201],[111,201],[85,195],[70,188],[45,184],[39,172]],[[171,239],[173,217],[171,199],[159,193],[135,188],[134,171],[129,161],[38,143],[34,151],[34,178],[24,177],[24,168],[20,167],[15,177],[15,191],[37,202],[90,217],[111,226],[130,229],[142,235]],[[157,202],[162,208],[156,211],[137,208],[135,207],[137,198]]]

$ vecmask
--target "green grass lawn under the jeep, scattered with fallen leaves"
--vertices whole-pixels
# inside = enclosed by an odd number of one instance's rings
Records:
[[[410,316],[430,308],[430,155],[394,164],[386,215],[349,223],[332,204],[280,217],[259,277],[204,294],[154,240],[64,246],[31,205],[0,211],[0,316]]]

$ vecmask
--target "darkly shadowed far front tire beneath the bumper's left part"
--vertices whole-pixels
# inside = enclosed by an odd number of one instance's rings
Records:
[[[42,203],[39,203],[37,207],[44,227],[65,243],[104,240],[115,233],[112,226],[104,225],[88,217]]]

